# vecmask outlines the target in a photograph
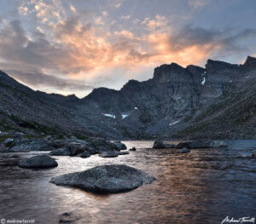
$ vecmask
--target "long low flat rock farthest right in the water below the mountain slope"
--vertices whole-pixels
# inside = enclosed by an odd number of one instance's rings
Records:
[[[227,147],[228,144],[224,141],[210,141],[210,140],[199,140],[199,141],[186,141],[177,144],[177,148],[214,148],[214,147]]]

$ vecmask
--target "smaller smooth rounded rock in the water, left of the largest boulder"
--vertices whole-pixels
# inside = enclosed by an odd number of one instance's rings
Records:
[[[49,168],[58,166],[54,158],[48,155],[38,155],[31,158],[22,158],[18,164],[24,168]]]

